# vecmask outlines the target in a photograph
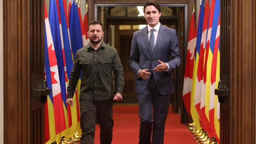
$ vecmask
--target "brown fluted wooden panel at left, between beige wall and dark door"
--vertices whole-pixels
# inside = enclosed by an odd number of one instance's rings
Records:
[[[28,1],[4,1],[4,143],[30,143]]]

